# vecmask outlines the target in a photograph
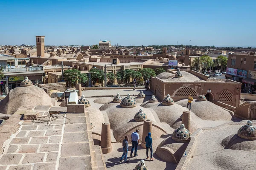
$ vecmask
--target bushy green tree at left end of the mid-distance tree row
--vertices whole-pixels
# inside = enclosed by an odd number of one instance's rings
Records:
[[[67,82],[67,87],[75,86],[77,82],[84,83],[88,81],[87,75],[81,74],[81,72],[75,68],[71,70],[65,70],[63,72],[63,78]]]

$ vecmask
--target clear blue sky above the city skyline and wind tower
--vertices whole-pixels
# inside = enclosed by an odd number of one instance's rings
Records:
[[[0,45],[256,46],[256,0],[0,0]]]

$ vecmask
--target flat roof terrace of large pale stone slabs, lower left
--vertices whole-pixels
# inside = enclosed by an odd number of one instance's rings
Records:
[[[47,116],[49,109],[35,108],[41,116]],[[105,169],[101,150],[94,150],[86,113],[59,113],[58,119],[50,122],[52,126],[12,115],[0,127],[0,170]]]

